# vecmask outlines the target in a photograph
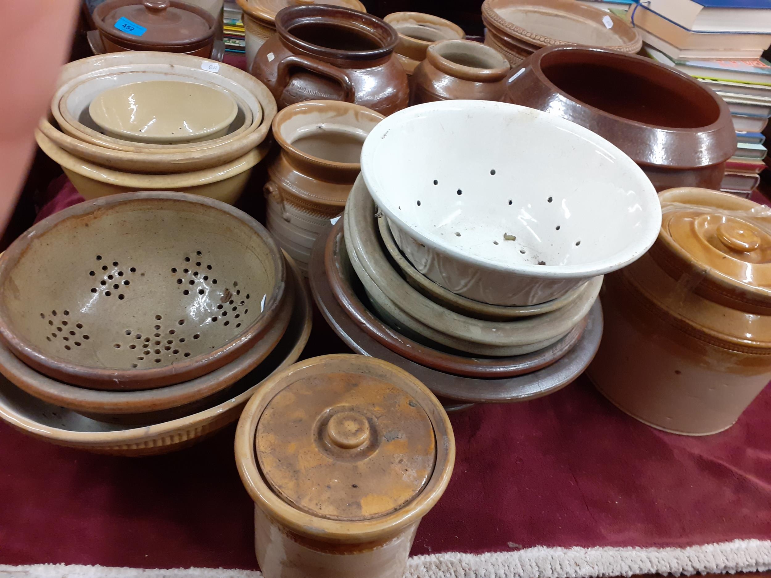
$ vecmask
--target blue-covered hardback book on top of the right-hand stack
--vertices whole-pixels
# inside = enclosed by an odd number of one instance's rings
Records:
[[[635,0],[696,32],[771,32],[771,0]]]

